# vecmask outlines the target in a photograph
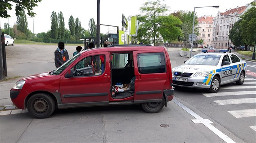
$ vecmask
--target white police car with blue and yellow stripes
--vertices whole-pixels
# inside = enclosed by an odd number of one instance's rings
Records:
[[[227,50],[202,50],[172,69],[172,83],[174,87],[208,88],[217,93],[223,84],[243,84],[246,71],[246,62]]]

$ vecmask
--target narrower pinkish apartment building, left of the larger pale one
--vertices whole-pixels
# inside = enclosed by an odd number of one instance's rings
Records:
[[[203,40],[203,43],[199,46],[210,46],[213,32],[213,18],[214,17],[206,17],[206,15],[197,18],[197,26],[199,27],[199,36],[197,36],[197,38]]]

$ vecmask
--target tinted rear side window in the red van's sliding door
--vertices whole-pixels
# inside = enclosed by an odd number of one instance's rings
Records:
[[[143,53],[137,55],[138,69],[141,74],[166,72],[163,53]]]

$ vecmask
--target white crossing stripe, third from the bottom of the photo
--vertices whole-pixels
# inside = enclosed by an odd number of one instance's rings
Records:
[[[256,98],[242,98],[242,99],[228,99],[228,100],[215,100],[213,102],[219,105],[230,105],[230,104],[243,104],[243,103],[256,103]]]

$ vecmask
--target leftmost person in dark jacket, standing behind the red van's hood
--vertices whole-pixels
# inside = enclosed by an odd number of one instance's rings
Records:
[[[58,42],[58,48],[54,51],[54,62],[56,68],[60,67],[63,63],[69,60],[67,50],[65,49],[64,42]]]

